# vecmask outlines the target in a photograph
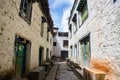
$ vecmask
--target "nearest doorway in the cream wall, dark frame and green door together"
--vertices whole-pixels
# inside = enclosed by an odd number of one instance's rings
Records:
[[[23,77],[28,70],[28,44],[29,41],[20,36],[15,36],[15,73],[16,77]],[[30,48],[30,47],[29,47]],[[30,50],[30,49],[29,49]],[[27,53],[27,54],[26,54]],[[27,63],[27,65],[26,65]]]

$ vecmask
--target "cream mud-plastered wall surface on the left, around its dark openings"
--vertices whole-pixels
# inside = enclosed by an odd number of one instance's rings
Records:
[[[0,72],[14,69],[15,34],[31,42],[30,69],[38,66],[39,47],[52,51],[52,45],[47,42],[47,23],[43,37],[40,36],[41,16],[38,3],[33,3],[31,25],[19,14],[21,0],[0,0]],[[51,33],[50,33],[51,35]],[[51,37],[51,36],[50,36]],[[45,52],[46,53],[46,52]],[[43,55],[45,61],[46,54]]]

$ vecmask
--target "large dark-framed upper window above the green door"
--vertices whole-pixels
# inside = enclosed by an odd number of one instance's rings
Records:
[[[21,0],[19,15],[20,15],[28,24],[31,24],[32,0]]]

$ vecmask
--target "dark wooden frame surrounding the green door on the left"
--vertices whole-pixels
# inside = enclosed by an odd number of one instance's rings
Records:
[[[18,46],[16,46],[16,44],[18,44]],[[17,47],[19,47],[19,45],[22,44],[24,45],[25,49],[24,49],[24,56],[22,57],[23,59],[23,63],[22,63],[22,66],[21,67],[21,73],[18,73],[17,71],[17,55],[18,52],[17,51]],[[28,46],[29,45],[29,46]],[[24,77],[26,73],[29,72],[29,68],[30,68],[30,52],[31,52],[31,42],[26,40],[25,38],[21,37],[21,36],[18,36],[18,35],[15,35],[15,44],[14,44],[14,50],[15,50],[15,76],[16,77]]]

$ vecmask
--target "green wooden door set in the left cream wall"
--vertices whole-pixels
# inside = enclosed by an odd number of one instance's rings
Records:
[[[26,45],[23,43],[16,43],[15,47],[16,47],[16,64],[15,64],[16,76],[22,77],[25,72]]]

